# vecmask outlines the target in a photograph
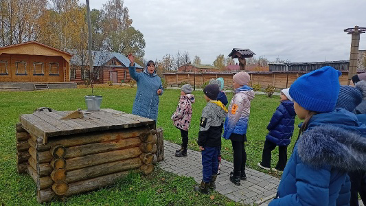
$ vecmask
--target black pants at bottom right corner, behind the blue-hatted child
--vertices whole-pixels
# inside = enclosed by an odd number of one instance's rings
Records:
[[[351,180],[351,206],[358,206],[358,193],[366,203],[366,172],[348,172]]]

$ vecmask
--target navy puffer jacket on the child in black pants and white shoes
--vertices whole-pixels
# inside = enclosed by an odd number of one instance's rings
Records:
[[[269,133],[266,139],[277,146],[288,146],[293,136],[295,116],[294,103],[289,100],[282,101],[267,126]]]

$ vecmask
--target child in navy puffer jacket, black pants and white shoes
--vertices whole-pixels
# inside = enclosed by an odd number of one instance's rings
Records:
[[[282,89],[281,104],[273,113],[272,119],[267,126],[269,131],[264,141],[262,162],[258,163],[260,168],[271,170],[271,152],[278,146],[278,162],[272,170],[283,171],[287,162],[287,146],[291,142],[295,124],[295,109],[290,89]]]

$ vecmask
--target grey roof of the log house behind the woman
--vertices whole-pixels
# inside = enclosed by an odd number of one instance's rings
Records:
[[[86,62],[82,62],[82,57],[80,55],[78,55],[77,50],[76,49],[69,49],[71,53],[75,54],[72,58],[71,58],[71,65],[82,65]],[[88,55],[87,51],[84,51],[84,55]],[[106,64],[106,62],[108,62],[109,60],[111,60],[112,58],[117,58],[117,60],[119,62],[122,63],[122,65],[124,65],[125,67],[128,67],[128,65],[130,65],[130,60],[128,60],[128,58],[126,56],[124,56],[123,54],[117,53],[117,52],[104,52],[104,51],[91,51],[91,55],[93,56],[93,66],[94,67],[99,67],[102,66],[104,64]],[[142,69],[144,67],[141,67],[141,65],[135,63],[136,68]]]

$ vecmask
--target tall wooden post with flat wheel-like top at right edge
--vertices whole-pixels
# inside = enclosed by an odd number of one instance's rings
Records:
[[[360,45],[360,34],[366,32],[366,27],[358,27],[348,28],[344,30],[347,34],[352,34],[351,41],[351,54],[350,54],[350,67],[348,67],[348,82],[347,85],[350,85],[352,76],[357,74],[357,63],[358,63],[358,47]]]

